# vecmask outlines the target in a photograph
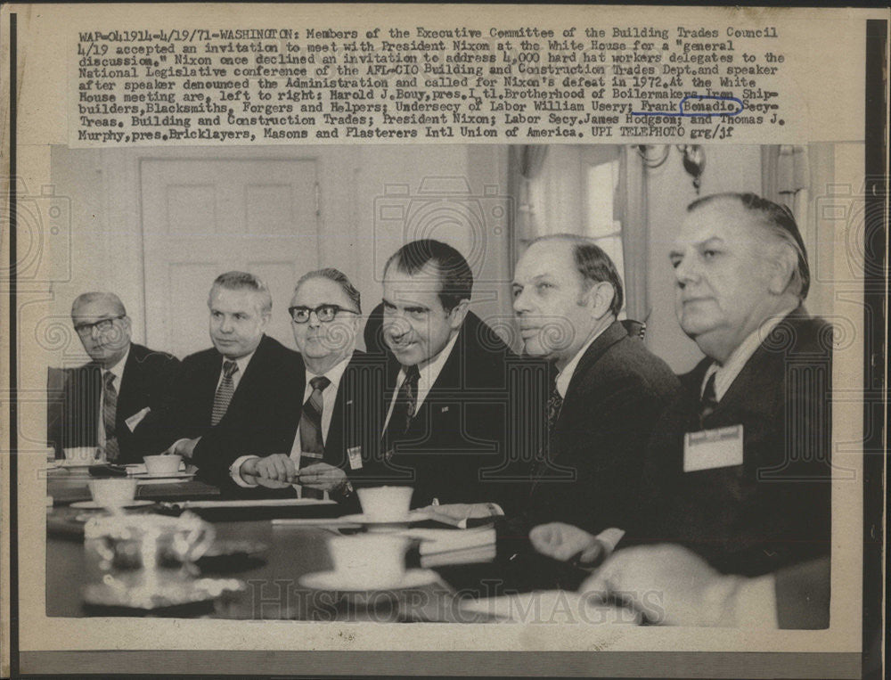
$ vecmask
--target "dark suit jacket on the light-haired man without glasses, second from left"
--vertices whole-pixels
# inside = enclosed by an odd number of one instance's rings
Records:
[[[225,415],[211,426],[222,367],[216,348],[185,357],[165,438],[170,446],[179,438],[200,437],[192,463],[205,479],[231,490],[229,467],[241,455],[290,453],[306,374],[297,352],[264,335]]]

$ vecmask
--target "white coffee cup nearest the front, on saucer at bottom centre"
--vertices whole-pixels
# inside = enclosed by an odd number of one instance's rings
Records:
[[[363,534],[331,538],[328,549],[339,581],[348,588],[386,588],[405,574],[408,538]]]

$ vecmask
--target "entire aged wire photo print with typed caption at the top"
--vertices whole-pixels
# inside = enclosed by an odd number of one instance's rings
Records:
[[[785,60],[737,14],[563,44],[417,9],[60,46],[6,177],[13,675],[875,676],[887,129],[753,89]],[[539,78],[442,56],[475,38]],[[632,56],[601,89],[595,53]]]

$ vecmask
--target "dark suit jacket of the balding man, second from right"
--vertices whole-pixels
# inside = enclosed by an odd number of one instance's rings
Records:
[[[639,501],[644,451],[680,385],[662,359],[614,322],[576,365],[527,504],[527,528],[624,527]]]

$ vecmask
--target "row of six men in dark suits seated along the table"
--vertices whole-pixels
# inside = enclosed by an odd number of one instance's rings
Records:
[[[598,588],[657,588],[651,619],[825,627],[831,328],[805,311],[795,220],[708,196],[670,260],[678,322],[705,354],[681,376],[618,320],[609,257],[569,234],[516,263],[521,356],[470,311],[461,253],[432,240],[388,259],[367,318],[345,274],[303,275],[298,352],[266,335],[273,300],[253,274],[217,277],[213,347],[182,362],[132,343],[115,295],[85,293],[71,317],[92,361],[51,385],[50,440],[118,463],[168,451],[226,493],[350,510],[356,487],[407,485],[413,507],[505,515],[508,545],[596,565]]]

